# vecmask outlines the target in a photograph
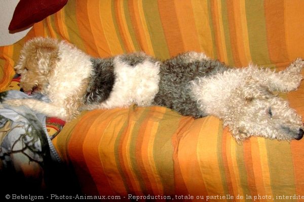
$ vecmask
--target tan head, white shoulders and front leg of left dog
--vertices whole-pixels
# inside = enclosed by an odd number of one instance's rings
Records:
[[[15,70],[21,75],[20,87],[24,92],[42,93],[50,103],[14,99],[7,100],[8,104],[27,106],[66,121],[79,114],[92,64],[90,56],[77,47],[53,38],[33,38],[24,44]]]

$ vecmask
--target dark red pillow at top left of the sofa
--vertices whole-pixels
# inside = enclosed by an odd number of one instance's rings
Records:
[[[9,30],[26,28],[59,11],[67,0],[20,0],[14,11]]]

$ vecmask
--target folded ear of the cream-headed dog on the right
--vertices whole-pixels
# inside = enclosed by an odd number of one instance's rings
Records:
[[[255,98],[269,99],[275,96],[267,86],[260,84],[252,77],[247,77],[244,86],[240,86],[240,89],[246,102],[251,102]]]

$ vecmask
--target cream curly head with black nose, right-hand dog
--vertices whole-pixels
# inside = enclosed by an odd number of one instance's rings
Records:
[[[235,117],[228,123],[237,140],[251,135],[279,140],[299,140],[303,137],[301,117],[286,100],[273,94],[267,86],[249,78],[237,93],[240,99],[238,104],[234,104]]]

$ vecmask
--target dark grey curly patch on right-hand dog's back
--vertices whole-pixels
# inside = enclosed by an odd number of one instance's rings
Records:
[[[164,106],[183,116],[200,118],[207,116],[198,108],[197,101],[191,96],[189,82],[197,77],[207,77],[222,73],[227,67],[217,60],[192,60],[186,53],[164,61],[160,68],[159,92],[154,105]]]

